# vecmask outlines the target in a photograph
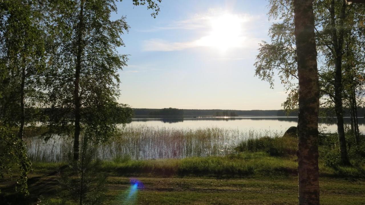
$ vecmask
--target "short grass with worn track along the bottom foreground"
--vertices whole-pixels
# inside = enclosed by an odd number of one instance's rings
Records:
[[[62,200],[67,205],[76,205],[61,187],[53,184],[55,179],[54,176],[38,178],[37,183],[30,185],[30,192],[42,194],[40,205],[55,205]],[[104,204],[297,204],[297,177],[294,176],[235,179],[139,177],[144,188],[133,194],[130,194],[129,180],[109,177]],[[39,184],[45,188],[38,190]],[[365,182],[322,177],[320,201],[323,205],[364,204]]]

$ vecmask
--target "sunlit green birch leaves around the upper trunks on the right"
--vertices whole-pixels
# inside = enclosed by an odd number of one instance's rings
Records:
[[[314,1],[314,15],[316,26],[316,45],[319,67],[319,84],[322,107],[330,107],[334,103],[334,62],[336,49],[342,49],[342,76],[343,76],[343,101],[349,98],[349,94],[355,88],[356,98],[362,103],[361,96],[364,93],[364,22],[365,8],[362,4],[345,6],[345,19],[341,20],[343,1],[333,1],[334,12],[331,14],[331,1]],[[296,47],[294,34],[294,13],[292,1],[270,0],[270,19],[278,19],[279,23],[273,23],[269,29],[270,42],[260,43],[259,54],[254,66],[255,75],[261,80],[268,81],[270,87],[274,85],[274,76],[280,78],[288,93],[283,107],[292,111],[298,107],[298,86],[296,71]],[[333,21],[332,21],[333,18]],[[341,26],[342,23],[345,26]],[[333,25],[334,24],[334,25]],[[333,31],[342,39],[337,42]],[[339,37],[340,38],[340,37]],[[342,43],[337,46],[337,44]],[[338,53],[338,52],[337,52]]]

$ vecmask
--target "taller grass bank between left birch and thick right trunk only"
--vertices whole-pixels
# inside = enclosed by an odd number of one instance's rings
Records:
[[[117,175],[243,177],[296,172],[292,158],[276,158],[265,152],[185,159],[105,161],[103,170]]]

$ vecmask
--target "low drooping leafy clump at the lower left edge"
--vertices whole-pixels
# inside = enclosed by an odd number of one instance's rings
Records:
[[[16,190],[28,195],[27,174],[31,171],[31,162],[27,157],[26,147],[18,136],[8,127],[0,126],[0,175],[17,176]]]

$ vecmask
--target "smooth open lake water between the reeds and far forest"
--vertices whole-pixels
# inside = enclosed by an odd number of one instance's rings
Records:
[[[297,117],[197,117],[197,118],[134,118],[130,125],[144,125],[166,128],[210,128],[263,130],[285,132],[291,126],[297,126]],[[320,119],[321,132],[337,132],[336,119]],[[359,129],[365,134],[365,120],[358,118]],[[345,117],[345,127],[350,127],[350,118]]]

